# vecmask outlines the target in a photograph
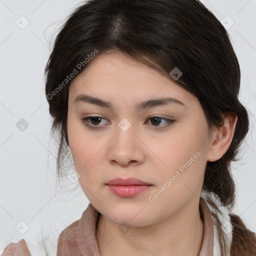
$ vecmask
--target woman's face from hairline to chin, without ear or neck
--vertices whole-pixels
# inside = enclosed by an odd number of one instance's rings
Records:
[[[79,183],[92,205],[116,224],[144,226],[199,200],[209,133],[198,99],[120,52],[90,61],[69,87],[67,135]],[[81,94],[111,107],[89,103]],[[160,98],[175,100],[141,104]],[[89,116],[101,119],[83,123]],[[116,177],[135,177],[150,186],[118,195],[107,185]]]

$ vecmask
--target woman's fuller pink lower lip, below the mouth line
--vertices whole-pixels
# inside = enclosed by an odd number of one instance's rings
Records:
[[[121,196],[121,197],[131,197],[140,192],[145,191],[151,185],[128,185],[128,186],[121,186],[121,185],[107,185],[114,194]]]

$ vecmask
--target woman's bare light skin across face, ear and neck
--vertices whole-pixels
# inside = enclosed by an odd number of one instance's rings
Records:
[[[76,102],[79,94],[110,101],[114,109]],[[136,103],[151,98],[174,97],[178,104],[137,111]],[[161,116],[159,122],[149,119]],[[81,118],[98,129],[90,129]],[[167,77],[118,51],[97,54],[69,86],[67,135],[81,188],[101,213],[96,238],[101,256],[198,255],[203,239],[199,198],[207,161],[215,161],[228,149],[237,121],[223,115],[219,129],[208,130],[196,97]],[[123,131],[118,123],[131,126]],[[126,124],[125,124],[126,125]],[[161,129],[156,128],[162,127]],[[149,201],[176,170],[196,152],[192,164],[163,193]],[[128,198],[113,194],[105,185],[115,177],[136,177],[149,184],[147,190]],[[126,221],[130,229],[122,232]],[[25,241],[22,241],[22,248]],[[25,244],[26,245],[26,244]],[[19,248],[18,244],[13,244]],[[20,244],[21,246],[21,244]],[[29,252],[29,251],[28,251]],[[3,256],[10,256],[3,252]],[[25,255],[25,254],[20,254]]]

